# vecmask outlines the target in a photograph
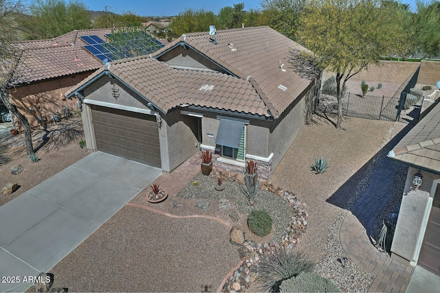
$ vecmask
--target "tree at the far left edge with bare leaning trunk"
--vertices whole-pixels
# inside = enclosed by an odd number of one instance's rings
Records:
[[[0,0],[0,99],[6,108],[19,119],[25,130],[26,152],[34,154],[32,135],[28,119],[19,112],[10,101],[7,90],[12,87],[14,68],[19,60],[20,51],[13,43],[19,40],[21,30],[17,16],[23,13],[21,1]]]

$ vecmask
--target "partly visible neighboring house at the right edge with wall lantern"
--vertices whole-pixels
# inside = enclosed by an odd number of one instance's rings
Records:
[[[440,104],[397,143],[388,158],[409,167],[392,257],[440,275]],[[415,176],[422,179],[418,189]]]

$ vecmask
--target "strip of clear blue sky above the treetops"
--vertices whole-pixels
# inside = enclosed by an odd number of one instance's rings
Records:
[[[412,11],[415,11],[416,0],[401,0],[402,3],[410,4]],[[139,16],[174,16],[179,12],[184,12],[188,8],[199,10],[210,10],[217,14],[220,8],[232,6],[234,3],[245,3],[245,10],[250,8],[261,8],[261,0],[83,0],[89,10],[105,11],[115,13],[131,11]],[[422,0],[422,2],[430,2],[430,0]]]

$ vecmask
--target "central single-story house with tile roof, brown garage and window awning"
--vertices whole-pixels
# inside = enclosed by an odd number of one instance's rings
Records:
[[[212,150],[214,167],[242,172],[254,159],[268,178],[320,86],[320,74],[295,73],[292,49],[305,48],[270,27],[186,34],[150,56],[110,62],[65,95],[83,100],[90,150],[164,172]]]

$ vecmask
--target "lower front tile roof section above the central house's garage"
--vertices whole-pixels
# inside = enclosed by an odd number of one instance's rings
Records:
[[[65,95],[74,93],[106,69],[103,67],[89,75]],[[232,75],[173,69],[147,56],[112,62],[108,70],[164,112],[188,104],[269,117],[267,107],[252,84]]]

